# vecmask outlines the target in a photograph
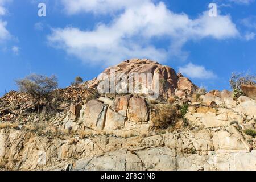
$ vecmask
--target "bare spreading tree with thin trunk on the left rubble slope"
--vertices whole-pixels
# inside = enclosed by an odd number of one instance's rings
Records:
[[[31,74],[26,78],[16,80],[20,92],[31,94],[38,102],[38,113],[40,112],[40,104],[43,98],[51,96],[53,90],[58,86],[57,78],[55,75],[47,77],[44,75]]]

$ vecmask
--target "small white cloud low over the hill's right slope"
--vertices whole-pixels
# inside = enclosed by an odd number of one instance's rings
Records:
[[[190,78],[210,79],[217,77],[212,71],[205,69],[203,66],[192,63],[188,63],[184,67],[179,67],[179,72]]]

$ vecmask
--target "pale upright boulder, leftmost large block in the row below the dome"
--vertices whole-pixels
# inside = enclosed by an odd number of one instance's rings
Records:
[[[96,131],[101,131],[105,126],[106,110],[107,107],[100,101],[89,101],[84,111],[84,126]]]

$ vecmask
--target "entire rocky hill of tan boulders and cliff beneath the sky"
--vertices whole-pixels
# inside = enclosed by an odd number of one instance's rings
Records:
[[[30,95],[10,92],[0,98],[0,168],[256,170],[255,86],[242,88],[237,99],[206,93],[170,67],[132,59],[55,90],[40,114]]]

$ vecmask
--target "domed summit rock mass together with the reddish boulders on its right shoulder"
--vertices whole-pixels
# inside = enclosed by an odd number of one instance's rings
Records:
[[[106,79],[108,79],[107,84],[109,81],[113,81],[114,90],[110,88],[111,84],[107,86],[100,84]],[[179,77],[174,69],[147,59],[126,60],[114,67],[107,68],[100,76],[89,81],[87,86],[89,88],[97,87],[104,93],[111,90],[112,93],[148,95],[156,90],[160,97],[165,98],[174,96],[175,90],[188,91],[189,94],[192,94],[197,89],[188,78]]]

